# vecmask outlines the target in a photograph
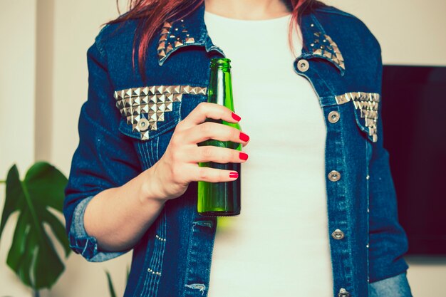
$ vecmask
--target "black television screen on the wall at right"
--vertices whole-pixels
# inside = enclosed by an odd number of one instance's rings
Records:
[[[384,66],[381,102],[408,254],[446,255],[446,67]]]

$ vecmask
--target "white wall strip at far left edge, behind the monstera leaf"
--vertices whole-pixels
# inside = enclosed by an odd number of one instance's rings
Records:
[[[21,177],[34,156],[34,89],[36,0],[1,1],[0,9],[0,180],[16,163]],[[5,187],[0,184],[3,209]],[[12,216],[0,241],[0,296],[30,296],[11,269],[6,255],[14,232]],[[5,286],[5,284],[8,286]]]

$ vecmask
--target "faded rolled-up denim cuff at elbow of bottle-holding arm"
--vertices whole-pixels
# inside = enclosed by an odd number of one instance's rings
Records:
[[[89,236],[85,231],[83,224],[83,214],[87,208],[88,202],[94,196],[83,199],[74,209],[73,222],[71,223],[68,239],[70,247],[76,254],[81,254],[87,261],[102,262],[116,258],[127,251],[98,251],[98,241],[93,236]]]

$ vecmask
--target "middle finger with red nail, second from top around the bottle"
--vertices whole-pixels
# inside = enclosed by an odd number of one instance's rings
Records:
[[[199,143],[204,140],[232,141],[247,145],[249,136],[240,130],[219,123],[206,122],[185,131],[182,141]]]

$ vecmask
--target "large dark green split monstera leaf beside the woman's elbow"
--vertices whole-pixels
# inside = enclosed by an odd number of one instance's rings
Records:
[[[47,234],[48,227],[63,246],[65,256],[70,253],[65,228],[53,214],[62,212],[66,184],[66,177],[46,162],[34,164],[23,181],[16,165],[8,172],[0,236],[11,214],[19,212],[6,262],[34,290],[51,288],[64,269]]]

